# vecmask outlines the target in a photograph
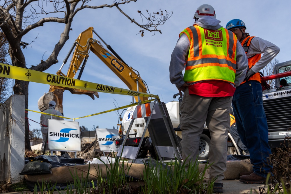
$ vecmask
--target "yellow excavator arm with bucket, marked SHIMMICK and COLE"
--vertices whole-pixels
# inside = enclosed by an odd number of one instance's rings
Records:
[[[100,40],[107,46],[107,48],[112,52],[109,52],[105,49],[99,40],[93,38],[93,32],[100,38]],[[71,55],[74,49],[74,53],[68,68],[67,75],[65,75],[61,70],[65,63],[67,62],[69,56]],[[127,65],[120,56],[111,48],[110,45],[107,45],[106,42],[94,31],[93,27],[89,27],[87,30],[82,32],[77,40],[72,45],[69,53],[67,54],[63,64],[56,72],[59,76],[65,76],[69,78],[74,78],[77,71],[80,70],[78,78],[81,78],[82,72],[86,65],[89,53],[92,51],[97,57],[99,57],[111,71],[113,71],[126,85],[130,90],[145,92],[147,91],[147,85],[143,79],[141,79],[139,72],[134,70],[131,66]],[[82,64],[83,62],[83,64]],[[99,95],[97,92],[89,90],[80,90],[72,89],[60,86],[49,87],[49,92],[45,93],[38,100],[38,108],[40,111],[44,111],[48,108],[48,103],[51,100],[56,102],[56,110],[60,111],[63,114],[63,92],[69,90],[72,94],[86,94],[90,96],[93,100],[94,95],[98,98]],[[139,100],[147,100],[147,97],[134,97],[136,102]]]

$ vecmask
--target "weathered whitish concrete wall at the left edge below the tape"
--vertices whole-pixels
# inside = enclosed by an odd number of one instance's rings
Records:
[[[0,106],[0,182],[23,181],[25,96],[12,95]]]

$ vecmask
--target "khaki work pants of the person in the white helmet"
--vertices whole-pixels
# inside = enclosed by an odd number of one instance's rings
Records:
[[[184,90],[181,103],[182,156],[184,163],[195,165],[204,124],[210,131],[210,180],[221,183],[226,171],[227,137],[230,128],[232,97],[202,97]],[[188,157],[189,156],[189,157]],[[188,157],[188,158],[187,158]]]

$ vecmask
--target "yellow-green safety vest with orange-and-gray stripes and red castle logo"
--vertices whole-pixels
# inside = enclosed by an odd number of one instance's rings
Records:
[[[236,36],[224,28],[203,29],[194,24],[180,33],[190,42],[185,64],[185,82],[203,80],[235,81]]]

